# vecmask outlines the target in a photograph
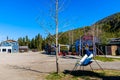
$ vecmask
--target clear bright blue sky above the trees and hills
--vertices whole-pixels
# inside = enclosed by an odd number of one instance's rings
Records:
[[[45,29],[54,34],[54,20],[50,17],[51,1],[53,0],[0,0],[0,41],[6,40],[7,36],[15,40],[26,35],[33,38],[38,33],[45,37]],[[64,7],[59,13],[59,32],[90,26],[120,12],[120,0],[60,1],[64,1]]]

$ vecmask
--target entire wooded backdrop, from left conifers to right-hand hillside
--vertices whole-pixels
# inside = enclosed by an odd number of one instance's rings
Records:
[[[91,34],[97,36],[102,44],[106,44],[110,38],[120,38],[120,13],[108,16],[92,26],[85,26],[74,30],[60,32],[59,44],[74,44],[75,40],[81,36]],[[55,35],[48,34],[46,39],[43,39],[40,34],[32,38],[28,36],[18,39],[19,45],[28,45],[30,49],[42,50],[46,44],[55,44]]]

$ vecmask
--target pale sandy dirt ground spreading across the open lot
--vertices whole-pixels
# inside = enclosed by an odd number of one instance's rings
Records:
[[[60,71],[72,70],[78,56],[59,57]],[[28,53],[1,53],[0,54],[0,80],[45,80],[50,72],[56,71],[55,55],[41,54],[40,52]],[[120,70],[120,62],[100,62],[104,69]],[[100,69],[94,61],[93,69]],[[84,69],[91,70],[90,66]]]

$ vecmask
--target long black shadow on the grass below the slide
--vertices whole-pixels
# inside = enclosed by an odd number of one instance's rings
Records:
[[[83,76],[93,77],[93,78],[99,78],[100,80],[120,80],[120,76],[105,76],[105,73],[96,73],[93,71],[85,71],[85,70],[84,71],[83,70],[76,70],[76,71],[65,70],[64,74],[70,74],[75,77],[83,77]]]

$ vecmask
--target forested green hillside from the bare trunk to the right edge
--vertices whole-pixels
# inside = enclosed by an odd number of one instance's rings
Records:
[[[120,13],[108,16],[92,26],[85,26],[64,32],[63,35],[59,37],[59,43],[72,44],[83,34],[94,34],[103,44],[106,44],[110,38],[120,37]]]

